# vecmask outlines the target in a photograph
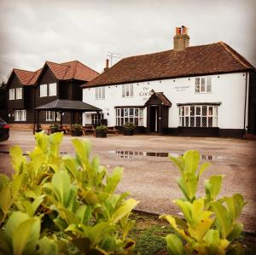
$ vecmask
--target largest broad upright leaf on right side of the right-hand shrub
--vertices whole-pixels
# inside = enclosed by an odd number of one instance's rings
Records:
[[[232,227],[232,219],[226,207],[219,202],[212,203],[212,211],[216,215],[218,230],[221,238],[225,239],[229,234]]]

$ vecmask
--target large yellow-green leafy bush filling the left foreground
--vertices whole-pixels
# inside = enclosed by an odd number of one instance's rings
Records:
[[[62,136],[37,133],[29,159],[10,149],[14,175],[0,175],[0,254],[128,254],[138,202],[114,193],[122,169],[109,175],[78,139],[75,157],[61,157]]]

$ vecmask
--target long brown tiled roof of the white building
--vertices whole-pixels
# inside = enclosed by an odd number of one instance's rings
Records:
[[[145,80],[188,77],[255,68],[223,42],[166,50],[122,59],[83,87],[125,84]]]

